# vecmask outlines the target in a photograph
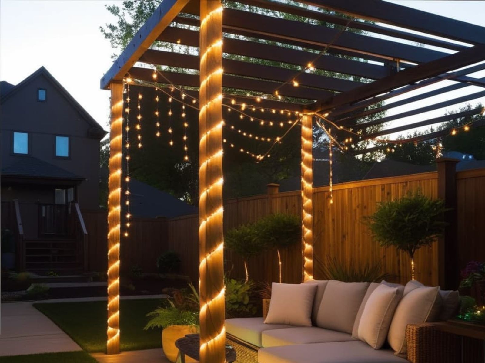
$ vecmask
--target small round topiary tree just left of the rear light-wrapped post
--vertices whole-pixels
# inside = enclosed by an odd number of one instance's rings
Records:
[[[280,250],[301,241],[302,225],[296,215],[275,213],[256,222],[258,239],[278,253],[279,282],[281,283]]]

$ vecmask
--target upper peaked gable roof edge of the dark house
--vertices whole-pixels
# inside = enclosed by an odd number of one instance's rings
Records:
[[[17,91],[21,90],[24,86],[32,82],[32,80],[34,80],[38,76],[45,76],[54,85],[54,87],[56,87],[56,89],[61,92],[67,102],[69,102],[71,106],[73,106],[81,114],[81,117],[91,126],[89,130],[90,134],[99,138],[102,138],[107,134],[102,126],[97,123],[97,121],[79,104],[78,101],[76,101],[73,96],[71,96],[71,94],[59,83],[57,79],[54,78],[54,76],[49,73],[49,71],[44,66],[40,67],[38,70],[32,73],[32,75],[28,76],[15,86],[8,82],[2,81],[0,85],[1,88],[3,89],[3,87],[5,87],[7,90],[5,91],[5,93],[1,91],[0,103],[5,102],[5,100],[12,97]],[[4,83],[6,84],[5,86]]]

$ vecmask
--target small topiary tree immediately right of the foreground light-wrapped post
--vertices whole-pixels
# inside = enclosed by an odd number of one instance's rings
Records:
[[[237,253],[244,260],[244,272],[246,273],[244,283],[247,283],[249,280],[247,261],[250,257],[259,255],[267,247],[263,240],[257,238],[255,225],[242,225],[228,230],[224,236],[224,244],[227,249]]]

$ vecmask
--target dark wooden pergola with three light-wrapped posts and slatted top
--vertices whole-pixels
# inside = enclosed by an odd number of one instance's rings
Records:
[[[127,77],[153,82],[159,74],[161,77],[157,82],[160,87],[176,85],[181,89],[190,88],[192,91],[187,89],[186,93],[198,101],[200,357],[204,363],[225,361],[222,108],[227,106],[227,98],[232,99],[233,105],[242,106],[242,110],[255,106],[263,111],[273,110],[273,113],[275,110],[291,112],[301,121],[303,280],[313,277],[314,117],[349,130],[349,133],[363,130],[354,132],[358,135],[355,142],[358,142],[481,111],[473,109],[406,123],[377,133],[365,133],[368,126],[484,97],[485,91],[367,123],[357,122],[367,115],[470,85],[484,87],[485,78],[468,76],[485,69],[483,27],[381,0],[297,1],[309,5],[306,7],[276,0],[238,2],[267,9],[271,11],[267,14],[271,15],[237,10],[231,3],[223,11],[221,0],[163,0],[101,78],[101,88],[111,90],[112,112],[108,201],[108,354],[119,352],[123,90]],[[322,9],[327,12],[322,12]],[[287,20],[275,14],[298,15],[302,17],[300,19],[309,20]],[[157,41],[198,47],[199,54],[158,50],[152,46]],[[228,55],[246,58],[236,60]],[[264,64],[261,62],[264,60],[281,62],[281,66]],[[198,70],[199,74],[168,72],[158,66]],[[157,71],[154,71],[155,67],[158,67]],[[344,77],[324,76],[315,70]],[[443,80],[454,83],[394,103],[369,107]],[[199,88],[198,97],[194,88]],[[484,124],[485,119],[481,119],[467,127]],[[449,132],[441,130],[437,132],[440,135],[420,136],[408,141],[434,138]]]

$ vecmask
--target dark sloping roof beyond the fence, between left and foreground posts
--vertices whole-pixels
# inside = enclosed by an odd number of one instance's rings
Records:
[[[144,182],[130,179],[129,189],[129,207],[133,217],[174,218],[180,215],[197,213],[196,207]]]

